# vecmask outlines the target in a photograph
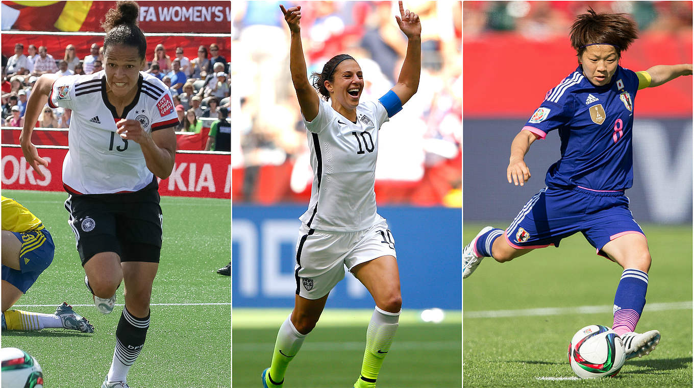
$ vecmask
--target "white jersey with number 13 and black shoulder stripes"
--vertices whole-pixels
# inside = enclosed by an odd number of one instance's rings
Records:
[[[150,133],[178,125],[169,88],[142,71],[137,95],[124,109],[123,117],[108,102],[103,70],[58,78],[53,83],[49,106],[72,110],[62,183],[73,194],[135,192],[154,180],[139,144],[123,140],[116,133],[117,121],[137,119]]]

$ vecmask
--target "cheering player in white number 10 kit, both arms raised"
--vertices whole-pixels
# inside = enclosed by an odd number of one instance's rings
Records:
[[[262,384],[282,387],[289,361],[316,326],[328,293],[344,278],[346,265],[376,305],[354,387],[375,387],[402,305],[393,237],[385,219],[376,213],[373,192],[378,130],[417,91],[421,24],[418,15],[403,10],[400,2],[400,16],[395,18],[408,43],[398,82],[378,101],[359,102],[364,79],[351,56],[333,57],[321,74],[314,74],[313,85],[308,81],[299,26],[301,6],[280,8],[291,31],[289,68],[307,128],[314,180],[308,210],[300,218],[294,311],[280,327]]]

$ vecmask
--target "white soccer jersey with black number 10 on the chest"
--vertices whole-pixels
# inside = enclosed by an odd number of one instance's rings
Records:
[[[376,213],[378,130],[388,121],[379,101],[357,106],[356,124],[323,101],[313,121],[304,120],[314,177],[308,210],[300,217],[309,228],[350,232],[370,228]]]

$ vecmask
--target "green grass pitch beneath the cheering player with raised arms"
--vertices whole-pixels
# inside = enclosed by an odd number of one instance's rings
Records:
[[[330,302],[328,302],[330,303]],[[234,388],[261,387],[286,310],[233,309]],[[301,351],[289,363],[285,388],[352,388],[364,357],[366,326],[373,310],[325,309]],[[425,323],[418,311],[403,310],[378,388],[461,386],[461,314],[446,311],[441,323]]]

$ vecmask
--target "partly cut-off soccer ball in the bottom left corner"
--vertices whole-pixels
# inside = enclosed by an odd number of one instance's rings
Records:
[[[2,388],[43,388],[41,366],[29,353],[18,348],[0,349]]]

